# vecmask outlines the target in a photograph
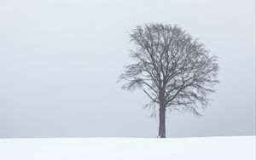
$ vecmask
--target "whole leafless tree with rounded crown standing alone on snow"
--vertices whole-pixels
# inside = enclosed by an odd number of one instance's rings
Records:
[[[218,83],[217,57],[177,26],[137,26],[130,36],[136,62],[125,66],[119,81],[125,80],[123,89],[143,89],[150,99],[147,106],[159,105],[158,137],[165,138],[167,108],[200,116],[199,107],[210,105],[207,94]]]

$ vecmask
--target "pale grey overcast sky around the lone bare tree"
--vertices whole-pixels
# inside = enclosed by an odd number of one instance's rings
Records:
[[[116,83],[129,34],[177,24],[218,55],[212,106],[167,114],[168,137],[255,134],[254,0],[0,0],[0,138],[156,137],[148,97]]]

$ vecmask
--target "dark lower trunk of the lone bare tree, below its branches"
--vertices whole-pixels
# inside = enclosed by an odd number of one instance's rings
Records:
[[[166,138],[166,107],[160,104],[158,137]]]

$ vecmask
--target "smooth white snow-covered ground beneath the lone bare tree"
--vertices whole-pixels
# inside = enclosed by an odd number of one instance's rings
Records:
[[[255,136],[0,139],[1,160],[255,160]]]

